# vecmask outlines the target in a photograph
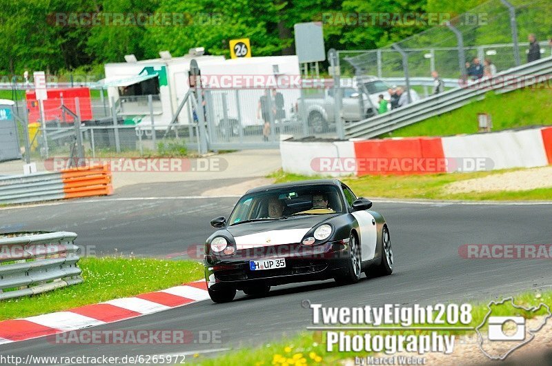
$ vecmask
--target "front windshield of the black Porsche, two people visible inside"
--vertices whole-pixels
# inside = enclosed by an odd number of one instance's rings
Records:
[[[303,215],[343,212],[343,201],[334,185],[299,185],[246,194],[239,199],[228,223],[270,221]]]

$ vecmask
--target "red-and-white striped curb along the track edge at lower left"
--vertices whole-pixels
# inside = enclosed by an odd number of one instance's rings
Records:
[[[0,345],[95,327],[197,303],[209,298],[204,280],[28,318],[0,321]]]

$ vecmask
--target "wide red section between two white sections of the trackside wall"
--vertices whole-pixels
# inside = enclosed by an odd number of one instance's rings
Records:
[[[355,141],[357,175],[446,172],[440,137]]]

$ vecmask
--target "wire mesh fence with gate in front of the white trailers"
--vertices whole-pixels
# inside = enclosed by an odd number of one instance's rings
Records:
[[[67,119],[55,118],[45,125],[31,123],[31,151],[42,158],[75,157],[77,134],[81,134],[84,154],[93,158],[184,155],[199,150],[203,138],[209,150],[243,150],[277,148],[280,139],[290,136],[335,137],[333,93],[331,86],[204,89],[203,108],[197,108],[197,92],[191,92],[172,123],[155,121],[161,111],[158,96],[121,96],[115,103],[107,98],[91,99],[93,117],[80,116],[78,126],[70,112]],[[359,105],[358,99],[353,103]],[[19,108],[23,111],[25,105]],[[201,109],[204,137],[198,114]],[[356,113],[357,120],[365,116],[360,110]]]

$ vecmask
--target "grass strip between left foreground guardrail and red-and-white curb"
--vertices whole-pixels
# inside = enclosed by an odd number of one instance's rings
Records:
[[[203,265],[150,258],[81,258],[84,282],[35,296],[0,301],[0,320],[24,318],[135,296],[196,281]]]

